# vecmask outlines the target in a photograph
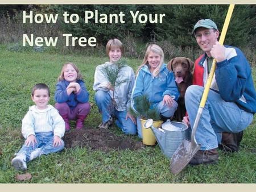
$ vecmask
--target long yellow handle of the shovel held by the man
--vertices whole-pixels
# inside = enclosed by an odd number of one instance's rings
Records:
[[[226,31],[228,30],[228,26],[229,26],[229,22],[230,22],[230,18],[232,16],[233,10],[234,10],[234,4],[230,4],[228,13],[226,14],[226,19],[225,19],[225,22],[224,22],[224,26],[223,26],[222,31],[221,31],[220,40],[219,40],[221,45],[223,45],[223,43],[224,43],[224,39],[225,39],[225,36],[226,36]],[[206,102],[207,97],[208,97],[210,84],[212,84],[212,78],[213,78],[213,74],[215,72],[215,69],[216,69],[216,60],[213,59],[212,68],[210,68],[210,74],[208,76],[207,84],[205,85],[203,97],[201,99],[200,106],[199,106],[201,108],[204,108],[204,106],[205,106],[205,102]]]

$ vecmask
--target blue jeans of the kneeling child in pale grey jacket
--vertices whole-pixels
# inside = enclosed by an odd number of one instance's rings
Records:
[[[109,92],[98,90],[95,94],[95,101],[96,105],[98,106],[98,109],[100,110],[102,114],[102,122],[108,122],[111,115],[115,116],[117,120],[115,120],[115,124],[125,134],[135,135],[137,133],[137,126],[131,121],[130,118],[126,119],[127,110],[125,111],[117,111],[115,108],[113,108],[112,111],[110,111],[110,103],[112,102],[112,99],[109,95]]]

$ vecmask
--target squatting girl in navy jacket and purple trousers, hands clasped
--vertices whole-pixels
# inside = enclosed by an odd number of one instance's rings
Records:
[[[68,62],[63,65],[55,91],[55,108],[65,121],[69,131],[69,120],[76,119],[76,129],[84,127],[84,120],[90,112],[89,93],[86,90],[79,68]]]

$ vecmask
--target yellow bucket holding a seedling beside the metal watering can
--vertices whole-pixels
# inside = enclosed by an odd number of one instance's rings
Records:
[[[151,128],[146,129],[144,127],[144,123],[146,122],[146,120],[141,119],[141,129],[142,129],[142,143],[144,145],[155,145],[156,143],[156,139],[155,139],[155,135],[152,132]],[[162,126],[162,121],[160,122],[153,122],[153,126],[155,128],[161,127]]]

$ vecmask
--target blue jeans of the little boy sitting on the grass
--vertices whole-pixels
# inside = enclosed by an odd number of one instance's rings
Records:
[[[57,147],[53,146],[53,132],[35,133],[35,137],[38,143],[35,143],[34,147],[32,146],[32,144],[30,146],[23,145],[17,153],[17,155],[24,153],[27,156],[26,162],[30,160],[30,154],[32,151],[35,151],[36,148],[40,148],[40,155],[47,155],[49,153],[59,152],[64,148],[63,140],[61,140],[61,145]]]

